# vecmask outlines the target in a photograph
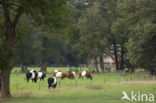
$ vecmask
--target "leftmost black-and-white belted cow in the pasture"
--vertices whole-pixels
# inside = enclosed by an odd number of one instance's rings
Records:
[[[34,81],[36,83],[37,82],[37,76],[38,76],[38,73],[35,70],[28,71],[26,73],[27,82],[31,78],[32,82]]]

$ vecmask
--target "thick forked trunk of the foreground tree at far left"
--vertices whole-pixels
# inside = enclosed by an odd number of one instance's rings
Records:
[[[1,77],[1,96],[2,98],[9,98],[11,97],[10,93],[10,74],[12,70],[13,65],[13,51],[15,48],[15,42],[16,42],[16,25],[18,24],[18,21],[23,14],[23,6],[20,6],[17,8],[17,12],[15,14],[14,19],[11,19],[10,17],[10,2],[8,0],[3,0],[1,2],[2,5],[2,12],[3,12],[3,19],[4,19],[4,45],[6,47],[6,52],[8,53],[7,59],[8,64],[5,67],[5,71],[2,72]],[[4,68],[3,68],[4,69]]]

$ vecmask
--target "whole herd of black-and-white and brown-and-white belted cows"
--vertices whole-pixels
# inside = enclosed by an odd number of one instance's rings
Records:
[[[74,71],[68,71],[67,73],[62,72],[61,70],[55,70],[52,72],[52,77],[48,78],[48,88],[53,87],[56,88],[57,86],[57,78],[68,78],[68,79],[75,79],[76,73]],[[32,82],[37,82],[37,79],[44,81],[46,74],[43,72],[37,72],[36,70],[30,70],[26,73],[27,82],[29,79],[32,79]],[[79,79],[83,77],[87,77],[92,80],[92,76],[88,71],[81,71],[79,72]]]

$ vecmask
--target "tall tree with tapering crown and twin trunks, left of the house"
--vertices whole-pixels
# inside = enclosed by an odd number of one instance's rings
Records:
[[[100,60],[101,71],[104,71],[103,55],[108,49],[108,22],[104,19],[98,8],[98,3],[93,2],[86,9],[83,17],[79,19],[80,28],[80,52],[87,54],[87,58],[95,60],[97,72],[97,58]]]

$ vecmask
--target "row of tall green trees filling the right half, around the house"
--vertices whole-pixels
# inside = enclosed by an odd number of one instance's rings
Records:
[[[129,68],[133,72],[138,67],[153,75],[155,4],[155,0],[89,1],[85,8],[78,8],[83,12],[76,22],[78,33],[70,35],[75,41],[73,48],[80,57],[94,60],[97,72],[98,62],[103,71],[103,58],[112,56],[117,70]]]

